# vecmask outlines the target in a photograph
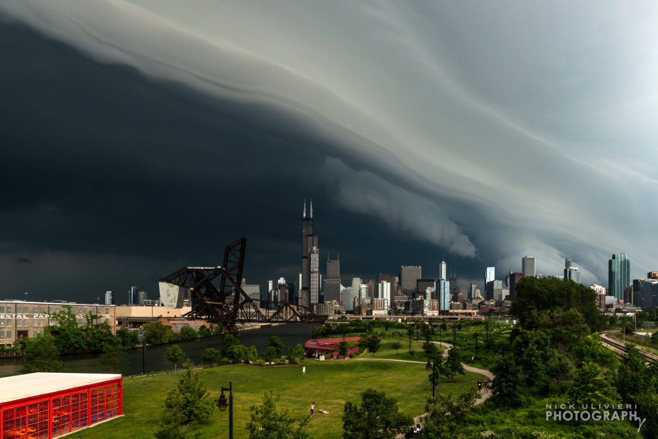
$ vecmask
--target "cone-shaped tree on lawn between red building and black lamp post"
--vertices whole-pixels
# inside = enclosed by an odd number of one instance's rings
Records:
[[[176,388],[167,393],[164,401],[164,418],[156,439],[193,438],[199,433],[199,423],[208,419],[215,409],[205,382],[198,371],[192,371],[192,362],[186,361],[186,369]]]

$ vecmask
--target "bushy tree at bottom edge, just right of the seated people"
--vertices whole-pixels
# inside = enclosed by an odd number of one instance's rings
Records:
[[[453,348],[454,349],[454,348]],[[427,398],[426,414],[422,416],[422,438],[460,438],[460,432],[466,425],[466,417],[475,405],[478,390],[467,388],[461,394],[438,394],[436,398]]]

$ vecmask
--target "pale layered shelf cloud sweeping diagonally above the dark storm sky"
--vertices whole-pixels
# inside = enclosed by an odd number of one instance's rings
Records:
[[[207,99],[193,107],[209,132],[213,105],[233,109],[298,185],[464,272],[534,255],[561,274],[569,257],[605,285],[611,253],[628,253],[633,276],[656,269],[657,8],[6,0],[0,14]],[[226,149],[201,143],[188,151]]]

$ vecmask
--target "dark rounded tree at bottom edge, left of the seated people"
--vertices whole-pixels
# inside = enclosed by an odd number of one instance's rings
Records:
[[[392,439],[405,432],[413,418],[399,413],[397,400],[384,392],[367,389],[361,394],[361,407],[347,401],[343,409],[343,438]]]

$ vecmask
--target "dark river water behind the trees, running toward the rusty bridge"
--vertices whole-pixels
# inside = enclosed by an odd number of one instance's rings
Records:
[[[270,328],[260,328],[238,332],[238,340],[245,346],[255,346],[259,353],[263,353],[270,344],[267,340],[271,336],[278,336],[286,346],[303,344],[311,338],[313,332],[312,324],[280,324]],[[147,372],[164,371],[172,369],[172,363],[166,361],[164,352],[171,345],[152,346],[144,349],[144,365]],[[195,364],[201,362],[201,355],[206,348],[221,349],[222,336],[198,338],[190,342],[178,342],[178,346],[184,351],[186,357]],[[285,349],[284,349],[285,353]],[[130,367],[126,375],[141,373],[142,352],[134,349],[124,357]],[[0,377],[18,374],[22,367],[22,359],[4,358],[0,359]],[[66,372],[74,373],[103,373],[99,359],[95,354],[81,353],[66,355],[64,357]],[[180,367],[180,364],[179,364]]]

